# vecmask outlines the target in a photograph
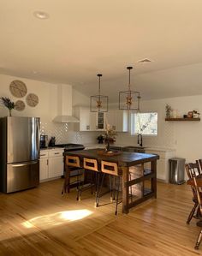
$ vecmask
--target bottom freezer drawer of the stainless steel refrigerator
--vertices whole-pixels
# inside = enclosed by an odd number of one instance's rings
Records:
[[[39,161],[7,164],[3,192],[10,193],[39,185]]]

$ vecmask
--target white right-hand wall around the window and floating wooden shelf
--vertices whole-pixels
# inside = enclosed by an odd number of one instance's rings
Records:
[[[166,104],[178,110],[179,116],[187,114],[190,110],[197,110],[202,115],[202,95],[141,101],[142,112],[158,113],[157,136],[143,136],[143,144],[175,148],[176,157],[186,158],[187,162],[202,158],[202,122],[165,122]],[[135,145],[137,136],[118,134],[116,142]]]

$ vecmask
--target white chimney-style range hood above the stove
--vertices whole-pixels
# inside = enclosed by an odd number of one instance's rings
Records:
[[[72,116],[72,86],[57,86],[57,113],[53,122],[80,122]]]

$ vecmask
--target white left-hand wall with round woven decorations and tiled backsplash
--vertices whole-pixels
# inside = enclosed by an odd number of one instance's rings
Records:
[[[26,103],[24,98],[15,98],[9,92],[9,84],[12,80],[21,80],[27,86],[27,94],[33,92],[39,97],[39,104],[32,108],[26,104],[23,111],[12,111],[12,116],[38,116],[41,119],[41,133],[56,137],[56,143],[95,143],[96,133],[74,132],[72,123],[55,123],[52,119],[57,115],[57,85],[42,82],[39,80],[29,80],[26,78],[0,74],[0,97],[8,97],[12,101],[18,99]],[[89,105],[89,98],[80,92],[73,90],[73,104]],[[0,104],[0,116],[9,116],[9,111]]]

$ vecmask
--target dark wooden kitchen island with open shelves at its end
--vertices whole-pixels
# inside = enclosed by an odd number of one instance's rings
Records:
[[[65,152],[64,158],[66,156],[77,156],[80,158],[80,163],[82,163],[83,158],[94,158],[98,160],[98,163],[101,160],[114,162],[118,164],[118,167],[122,169],[122,212],[128,213],[129,209],[134,207],[135,205],[140,204],[141,202],[151,199],[152,197],[157,198],[157,159],[159,159],[158,155],[154,154],[145,154],[145,153],[135,153],[135,152],[120,152],[117,155],[109,155],[105,156],[100,154],[100,149],[91,149],[91,150],[82,150],[82,151],[74,151],[74,152]],[[150,170],[144,170],[145,163],[151,163]],[[66,163],[66,160],[65,160]],[[82,165],[82,164],[81,164]],[[130,170],[135,166],[138,166],[139,169],[142,169],[141,176],[131,176]],[[80,166],[82,167],[82,166]],[[67,187],[69,184],[69,170],[68,165],[65,164],[66,175],[63,186],[63,192],[67,192]],[[150,189],[144,190],[144,183],[149,181],[151,184]],[[129,201],[131,198],[131,187],[135,184],[143,184],[143,192],[140,198]]]

